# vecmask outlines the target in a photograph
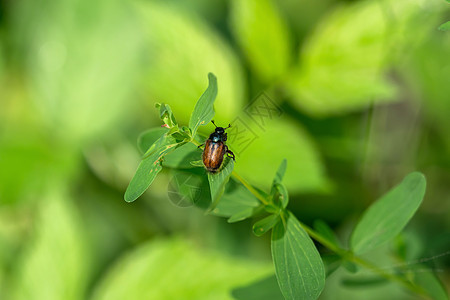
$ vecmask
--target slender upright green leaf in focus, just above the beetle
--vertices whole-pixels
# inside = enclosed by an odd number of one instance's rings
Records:
[[[209,73],[208,81],[208,88],[195,104],[194,111],[189,120],[189,128],[192,130],[192,136],[195,136],[200,125],[208,124],[214,117],[214,100],[216,100],[217,96],[217,78],[214,74]]]

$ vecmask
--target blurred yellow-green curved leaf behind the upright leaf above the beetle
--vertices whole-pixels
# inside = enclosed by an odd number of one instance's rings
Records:
[[[148,49],[142,65],[147,98],[170,103],[177,121],[187,124],[212,72],[220,84],[215,121],[228,124],[243,105],[245,78],[227,41],[189,10],[165,1],[135,4]]]

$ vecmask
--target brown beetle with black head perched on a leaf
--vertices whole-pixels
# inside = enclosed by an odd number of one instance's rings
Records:
[[[223,157],[225,154],[227,154],[228,157],[231,157],[234,161],[236,159],[234,153],[228,149],[227,145],[225,145],[225,142],[227,141],[227,134],[225,133],[225,130],[230,128],[231,125],[228,124],[228,127],[223,128],[218,127],[216,123],[214,123],[214,120],[211,120],[211,122],[214,126],[216,126],[216,129],[209,135],[209,138],[205,142],[202,160],[206,170],[211,173],[216,173],[222,166]]]

